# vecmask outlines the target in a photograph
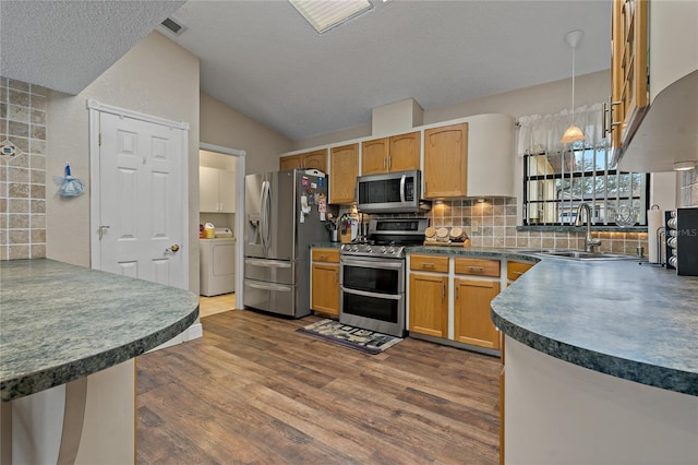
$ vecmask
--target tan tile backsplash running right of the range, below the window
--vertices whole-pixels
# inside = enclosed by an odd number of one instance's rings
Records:
[[[517,230],[516,198],[485,198],[455,200],[434,203],[426,214],[430,225],[438,227],[460,226],[468,234],[472,247],[527,247],[583,249],[585,230],[538,231]],[[637,247],[645,247],[647,233],[592,231],[601,239],[600,250],[604,252],[635,254]]]

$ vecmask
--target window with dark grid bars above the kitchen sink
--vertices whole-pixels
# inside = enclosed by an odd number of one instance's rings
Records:
[[[600,145],[525,155],[524,225],[573,225],[580,203],[589,204],[592,225],[619,226],[624,216],[635,219],[630,226],[647,225],[649,175],[609,166]]]

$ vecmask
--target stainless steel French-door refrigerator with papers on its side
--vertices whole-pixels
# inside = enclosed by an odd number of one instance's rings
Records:
[[[328,239],[325,174],[249,175],[244,203],[244,307],[310,314],[310,245]]]

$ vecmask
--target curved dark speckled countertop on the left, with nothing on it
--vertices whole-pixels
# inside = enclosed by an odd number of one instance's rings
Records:
[[[198,296],[53,260],[0,261],[0,400],[143,354],[198,315]]]

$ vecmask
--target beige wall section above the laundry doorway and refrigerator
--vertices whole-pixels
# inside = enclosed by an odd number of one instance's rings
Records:
[[[201,93],[201,142],[245,151],[245,171],[278,169],[279,155],[291,151],[289,139]]]

